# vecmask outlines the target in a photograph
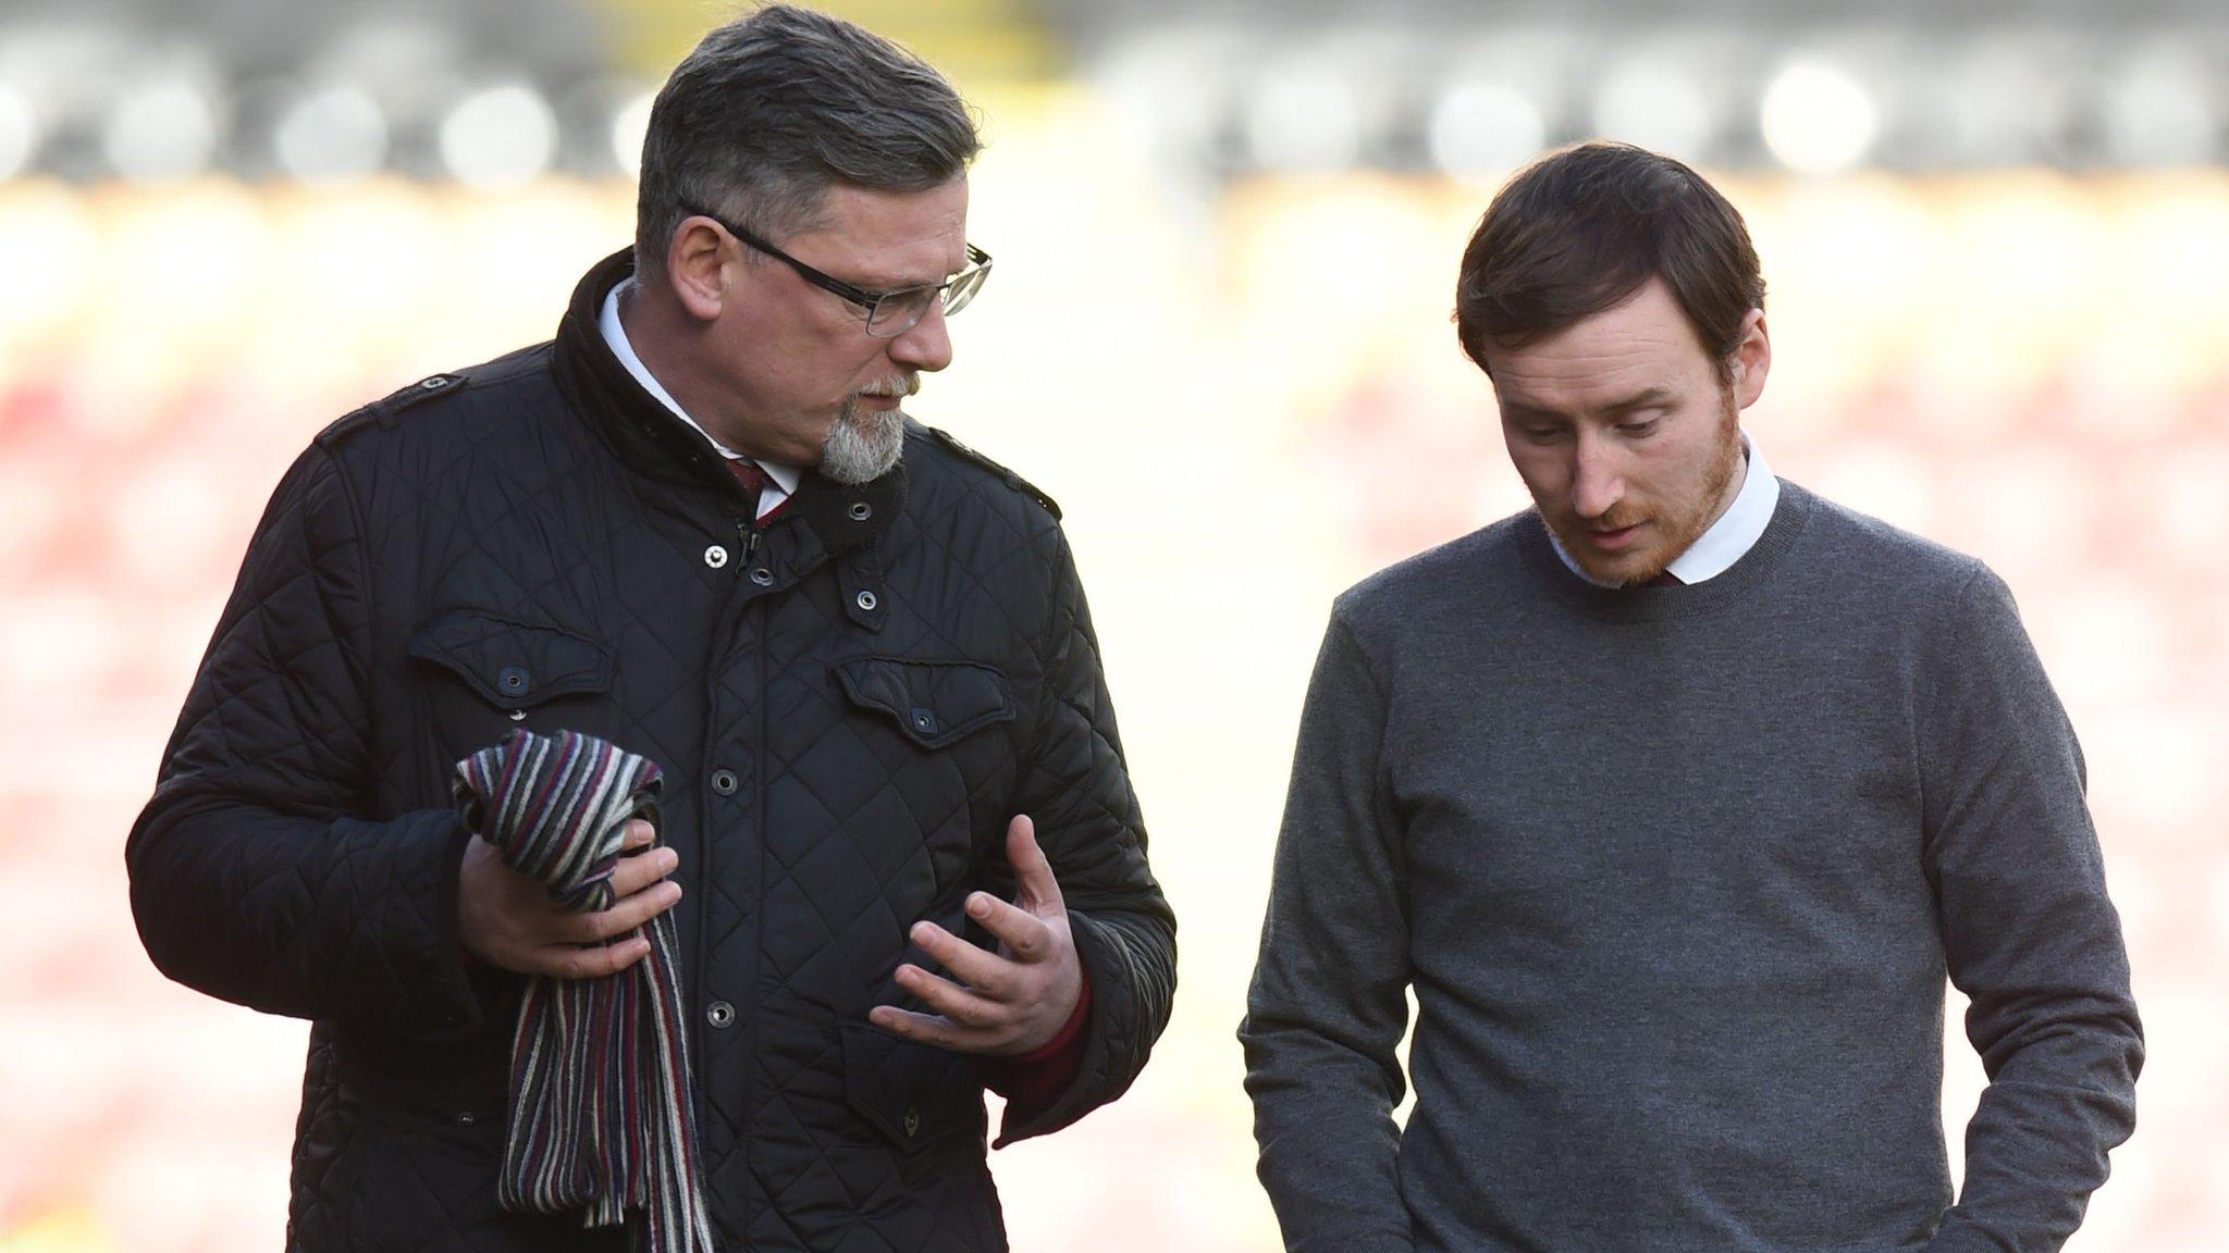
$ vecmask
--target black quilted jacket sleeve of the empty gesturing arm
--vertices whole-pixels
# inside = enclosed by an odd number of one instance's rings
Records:
[[[1092,1006],[1077,1077],[1039,1108],[1008,1106],[1001,1148],[1059,1130],[1123,1095],[1146,1068],[1177,994],[1177,916],[1146,865],[1146,825],[1130,791],[1083,584],[1068,540],[1052,535],[1045,682],[1014,807],[1036,823]],[[1012,870],[1001,865],[1001,874],[1010,878]]]

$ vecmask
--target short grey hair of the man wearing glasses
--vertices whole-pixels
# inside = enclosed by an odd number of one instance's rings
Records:
[[[635,270],[664,274],[682,201],[780,239],[816,225],[834,183],[927,192],[981,147],[967,105],[925,60],[840,18],[767,4],[704,36],[651,105]]]

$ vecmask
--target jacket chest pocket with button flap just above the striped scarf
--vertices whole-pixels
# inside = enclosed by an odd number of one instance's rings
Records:
[[[611,649],[575,631],[450,609],[417,629],[410,658],[444,765],[519,727],[609,734]]]

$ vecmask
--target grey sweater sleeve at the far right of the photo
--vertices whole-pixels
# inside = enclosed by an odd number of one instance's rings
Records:
[[[2004,582],[1975,571],[1921,691],[1926,858],[1988,1086],[1933,1253],[2055,1253],[2135,1128],[2144,1037],[2082,749]]]

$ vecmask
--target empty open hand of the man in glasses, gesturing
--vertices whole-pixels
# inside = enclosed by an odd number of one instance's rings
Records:
[[[936,1014],[876,1006],[867,1021],[921,1043],[996,1057],[1030,1052],[1068,1026],[1083,994],[1083,968],[1061,885],[1036,847],[1030,818],[1008,823],[1005,858],[1014,865],[1014,903],[987,892],[967,896],[967,916],[999,936],[999,952],[985,952],[936,923],[914,923],[914,943],[958,983],[901,965],[898,985]]]

